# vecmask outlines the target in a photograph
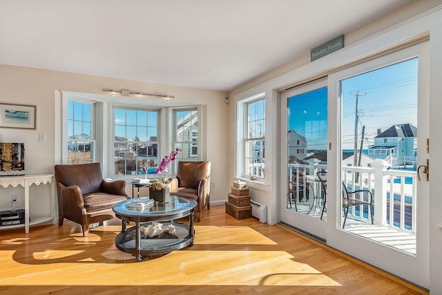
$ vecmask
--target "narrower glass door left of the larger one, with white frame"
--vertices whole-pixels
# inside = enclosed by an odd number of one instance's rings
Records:
[[[283,107],[281,128],[286,166],[281,220],[323,240],[326,194],[317,173],[327,171],[326,82],[312,82],[282,95],[287,107]]]

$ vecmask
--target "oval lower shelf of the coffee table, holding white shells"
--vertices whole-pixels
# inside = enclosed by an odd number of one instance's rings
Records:
[[[186,246],[193,245],[194,232],[190,233],[189,225],[181,222],[161,222],[163,228],[173,224],[175,232],[173,234],[162,234],[148,238],[140,233],[140,247],[137,247],[137,232],[139,227],[135,225],[120,232],[115,238],[115,245],[121,251],[136,256],[139,261],[143,260],[142,256],[167,254],[171,251],[182,249]],[[140,226],[147,227],[151,222],[140,223]]]

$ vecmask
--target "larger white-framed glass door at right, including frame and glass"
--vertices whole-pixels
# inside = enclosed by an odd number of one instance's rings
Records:
[[[336,149],[327,173],[333,197],[325,207],[327,244],[422,287],[428,287],[428,182],[416,170],[430,159],[429,99],[422,91],[428,87],[421,87],[428,83],[426,48],[411,46],[330,75],[338,121],[332,119]]]

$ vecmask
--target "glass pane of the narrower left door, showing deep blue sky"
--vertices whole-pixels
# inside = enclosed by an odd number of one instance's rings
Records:
[[[289,97],[287,107],[287,209],[325,220],[316,173],[327,169],[327,87]]]

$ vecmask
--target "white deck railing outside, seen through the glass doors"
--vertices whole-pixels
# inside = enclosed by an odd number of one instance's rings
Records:
[[[350,209],[348,218],[369,222],[369,210],[373,210],[374,224],[404,231],[416,232],[416,171],[389,169],[385,160],[374,160],[371,167],[344,166],[343,182],[349,189],[372,191],[374,206],[358,206]],[[309,164],[289,164],[289,180],[301,188],[297,191],[296,202],[305,202],[306,186],[296,175],[316,175],[326,170],[327,165],[311,159]],[[302,189],[303,194],[302,194]],[[301,195],[298,195],[298,193]],[[328,198],[331,198],[329,195]]]

